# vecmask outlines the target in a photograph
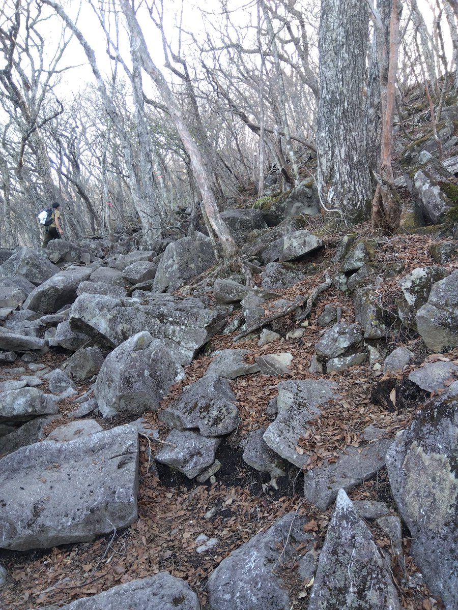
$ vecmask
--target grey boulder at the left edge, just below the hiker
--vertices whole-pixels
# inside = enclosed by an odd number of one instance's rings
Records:
[[[21,248],[0,265],[0,278],[23,276],[38,286],[59,272],[43,249]]]

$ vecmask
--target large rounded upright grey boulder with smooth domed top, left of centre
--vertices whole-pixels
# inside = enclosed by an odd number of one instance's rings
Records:
[[[139,332],[106,357],[94,387],[103,417],[157,411],[170,386],[184,378],[183,369],[149,332]]]

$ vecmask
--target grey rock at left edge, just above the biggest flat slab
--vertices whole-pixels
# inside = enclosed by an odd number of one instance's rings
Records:
[[[21,422],[38,415],[55,415],[57,404],[36,387],[23,387],[0,393],[0,423]]]

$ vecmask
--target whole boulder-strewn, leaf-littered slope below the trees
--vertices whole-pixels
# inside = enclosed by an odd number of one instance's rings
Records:
[[[453,232],[231,213],[255,289],[177,292],[202,234],[4,255],[1,608],[453,608]]]

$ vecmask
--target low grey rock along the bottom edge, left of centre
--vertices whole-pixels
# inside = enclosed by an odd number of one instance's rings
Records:
[[[82,597],[62,610],[200,610],[197,595],[181,578],[160,572],[120,584],[93,597]]]

